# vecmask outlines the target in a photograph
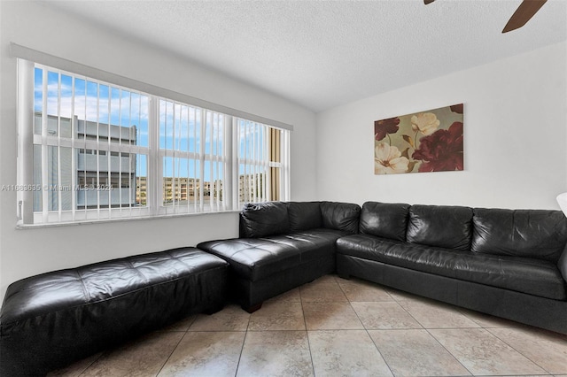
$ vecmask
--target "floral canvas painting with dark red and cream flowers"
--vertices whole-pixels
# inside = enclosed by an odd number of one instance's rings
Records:
[[[463,104],[374,122],[374,173],[459,171]]]

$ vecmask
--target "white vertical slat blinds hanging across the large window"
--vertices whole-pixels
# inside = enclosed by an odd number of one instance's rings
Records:
[[[19,191],[20,224],[289,197],[289,131],[19,62],[19,187],[30,188]]]

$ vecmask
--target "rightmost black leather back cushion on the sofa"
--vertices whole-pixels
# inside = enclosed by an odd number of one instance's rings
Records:
[[[557,262],[567,242],[561,211],[475,208],[471,250]]]

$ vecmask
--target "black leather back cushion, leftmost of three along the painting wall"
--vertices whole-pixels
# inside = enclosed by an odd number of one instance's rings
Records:
[[[409,204],[366,202],[362,204],[359,230],[366,235],[406,241]]]

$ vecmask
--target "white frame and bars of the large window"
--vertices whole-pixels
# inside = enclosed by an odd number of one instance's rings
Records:
[[[14,49],[15,46],[15,49]],[[28,53],[29,51],[37,52],[35,50],[29,50],[18,45],[12,44],[12,54],[14,50],[19,51],[19,54],[23,52]],[[39,53],[43,57],[43,53]],[[43,54],[43,55],[42,55]],[[26,55],[26,54],[23,54]],[[49,58],[54,58],[50,57]],[[44,58],[44,57],[43,57]],[[49,60],[49,59],[47,59]],[[64,59],[55,58],[56,62],[69,63]],[[72,63],[72,62],[71,62]],[[34,118],[34,67],[35,64],[45,65],[44,63],[33,63],[24,58],[18,59],[18,121],[19,121],[19,155],[18,155],[18,188],[30,187],[33,185],[33,145],[41,144],[42,149],[46,150],[47,146],[51,145],[56,148],[84,148],[97,150],[97,142],[83,140],[81,142],[64,140],[64,138],[59,136],[50,136],[45,134],[43,129],[42,135],[34,135],[34,129],[31,126],[33,124]],[[65,65],[65,64],[63,64]],[[67,64],[68,65],[68,64]],[[71,64],[73,65],[73,64]],[[78,71],[82,71],[82,65],[76,65]],[[190,101],[183,100],[194,100],[193,97],[183,96],[179,93],[170,92],[167,89],[153,87],[148,84],[139,83],[138,81],[130,81],[129,79],[123,78],[121,76],[113,75],[112,73],[105,73],[97,71],[94,68],[89,68],[90,73],[101,73],[99,76],[105,76],[105,78],[115,78],[117,81],[127,81],[127,83],[135,83],[137,88],[131,88],[129,86],[123,86],[119,83],[114,83],[113,81],[103,80],[98,77],[93,77],[93,75],[85,75],[84,73],[75,73],[74,71],[69,71],[63,68],[51,68],[52,65],[45,65],[48,69],[53,69],[55,71],[60,71],[65,74],[70,74],[72,76],[81,76],[81,78],[86,78],[89,81],[100,81],[105,85],[112,87],[123,87],[125,90],[136,91],[149,98],[149,118],[150,126],[148,131],[150,134],[150,145],[143,147],[140,145],[113,145],[109,143],[108,151],[120,152],[120,153],[136,153],[144,154],[147,157],[147,205],[145,207],[133,208],[130,207],[127,210],[115,209],[115,208],[98,208],[96,211],[93,210],[76,210],[75,197],[73,199],[73,209],[72,211],[66,212],[61,210],[61,205],[58,205],[58,211],[50,212],[45,211],[45,204],[43,204],[42,212],[33,212],[33,191],[20,189],[18,192],[18,226],[27,227],[32,225],[58,225],[58,224],[68,224],[77,222],[92,222],[105,219],[136,219],[136,218],[152,218],[158,216],[169,216],[169,215],[183,215],[196,212],[223,212],[223,211],[239,211],[241,209],[241,202],[238,200],[238,149],[237,149],[237,131],[234,127],[236,119],[245,119],[247,121],[258,122],[262,127],[274,127],[283,130],[282,132],[282,146],[281,146],[281,163],[278,167],[281,167],[282,180],[281,180],[281,196],[279,200],[289,200],[290,198],[290,170],[289,170],[289,148],[290,148],[290,131],[292,127],[290,125],[285,125],[277,121],[271,121],[272,124],[276,126],[266,124],[267,120],[262,117],[254,116],[245,112],[239,112],[233,109],[223,107],[221,105],[213,104],[208,108],[199,106],[199,104],[211,104],[206,103],[202,100],[196,100],[193,104]],[[84,71],[84,70],[83,70]],[[139,88],[150,88],[155,89],[152,94],[149,91],[142,91]],[[163,96],[168,94],[171,96]],[[206,116],[209,113],[221,113],[223,117],[223,137],[224,142],[222,142],[223,154],[221,156],[206,154],[204,150],[199,153],[181,151],[181,150],[161,150],[159,148],[159,101],[165,100],[169,102],[174,102],[178,104],[187,105],[193,108],[198,108],[201,110],[202,117],[201,127],[206,127]],[[195,104],[198,103],[198,104]],[[211,109],[214,108],[214,109]],[[219,112],[219,111],[225,112]],[[46,118],[46,117],[43,117]],[[252,119],[252,120],[249,120]],[[156,127],[151,127],[151,124],[156,125]],[[269,123],[268,123],[269,124]],[[278,127],[284,126],[284,127]],[[203,130],[201,130],[203,134]],[[204,142],[201,142],[201,146]],[[43,152],[44,153],[44,152]],[[222,165],[223,170],[223,187],[224,190],[222,194],[223,200],[220,201],[216,196],[217,200],[214,200],[214,196],[210,196],[209,203],[205,203],[203,199],[201,189],[201,200],[198,205],[186,207],[175,206],[175,205],[164,205],[162,202],[163,192],[163,158],[195,158],[200,161],[201,169],[204,169],[206,160],[214,160]],[[272,162],[268,162],[268,165],[274,165]],[[202,175],[201,175],[202,177]],[[211,179],[212,180],[212,179]],[[232,193],[232,195],[230,195]],[[44,195],[44,194],[43,194]],[[268,196],[255,197],[258,201],[269,200]],[[45,203],[45,200],[43,200]],[[59,202],[60,203],[60,202]]]

